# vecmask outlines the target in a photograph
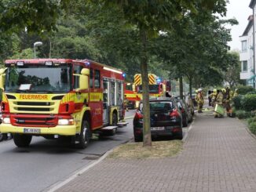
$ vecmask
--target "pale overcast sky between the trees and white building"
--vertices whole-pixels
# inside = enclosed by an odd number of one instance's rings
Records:
[[[238,25],[232,27],[232,42],[229,42],[231,50],[241,49],[239,36],[247,27],[248,17],[252,15],[252,9],[249,7],[250,2],[251,0],[229,0],[227,18],[235,17],[239,22]]]

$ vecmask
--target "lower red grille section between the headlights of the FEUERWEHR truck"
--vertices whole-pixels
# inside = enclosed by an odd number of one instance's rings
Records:
[[[57,117],[50,115],[13,114],[11,122],[14,126],[27,127],[54,127],[57,125]]]

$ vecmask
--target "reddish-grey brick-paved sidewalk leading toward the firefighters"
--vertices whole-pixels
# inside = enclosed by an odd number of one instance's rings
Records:
[[[256,139],[236,118],[197,114],[173,158],[104,159],[57,191],[256,191]]]

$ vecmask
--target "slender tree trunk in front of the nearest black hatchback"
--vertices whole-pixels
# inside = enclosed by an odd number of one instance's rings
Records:
[[[152,146],[149,109],[149,88],[148,88],[148,57],[147,57],[147,34],[144,29],[141,34],[141,79],[143,98],[143,146]]]

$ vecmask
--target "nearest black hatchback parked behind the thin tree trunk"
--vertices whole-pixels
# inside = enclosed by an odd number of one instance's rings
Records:
[[[152,137],[168,136],[182,139],[182,116],[174,98],[158,97],[149,100]],[[133,118],[135,142],[143,139],[143,103],[139,104]]]

